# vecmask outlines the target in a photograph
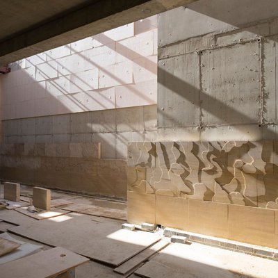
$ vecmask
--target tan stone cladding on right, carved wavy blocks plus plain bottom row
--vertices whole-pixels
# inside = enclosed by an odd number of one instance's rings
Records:
[[[129,222],[278,247],[277,141],[132,142],[128,166]]]

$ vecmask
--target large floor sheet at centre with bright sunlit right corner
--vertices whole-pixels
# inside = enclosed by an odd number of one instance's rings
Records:
[[[65,247],[113,266],[120,265],[159,240],[156,234],[121,229],[121,223],[116,221],[92,220],[94,218],[90,215],[69,213],[14,227],[10,231],[51,246]]]

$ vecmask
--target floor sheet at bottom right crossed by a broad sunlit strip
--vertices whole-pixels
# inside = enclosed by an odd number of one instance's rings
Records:
[[[198,243],[174,243],[135,273],[149,278],[276,278],[277,270],[277,261]]]

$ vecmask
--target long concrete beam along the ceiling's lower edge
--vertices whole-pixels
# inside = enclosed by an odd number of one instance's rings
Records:
[[[0,65],[87,38],[196,0],[102,0],[0,42]],[[18,20],[18,19],[17,19]]]

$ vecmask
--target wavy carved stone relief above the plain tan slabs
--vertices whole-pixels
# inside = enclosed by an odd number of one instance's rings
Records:
[[[131,142],[128,190],[278,209],[278,141]]]

